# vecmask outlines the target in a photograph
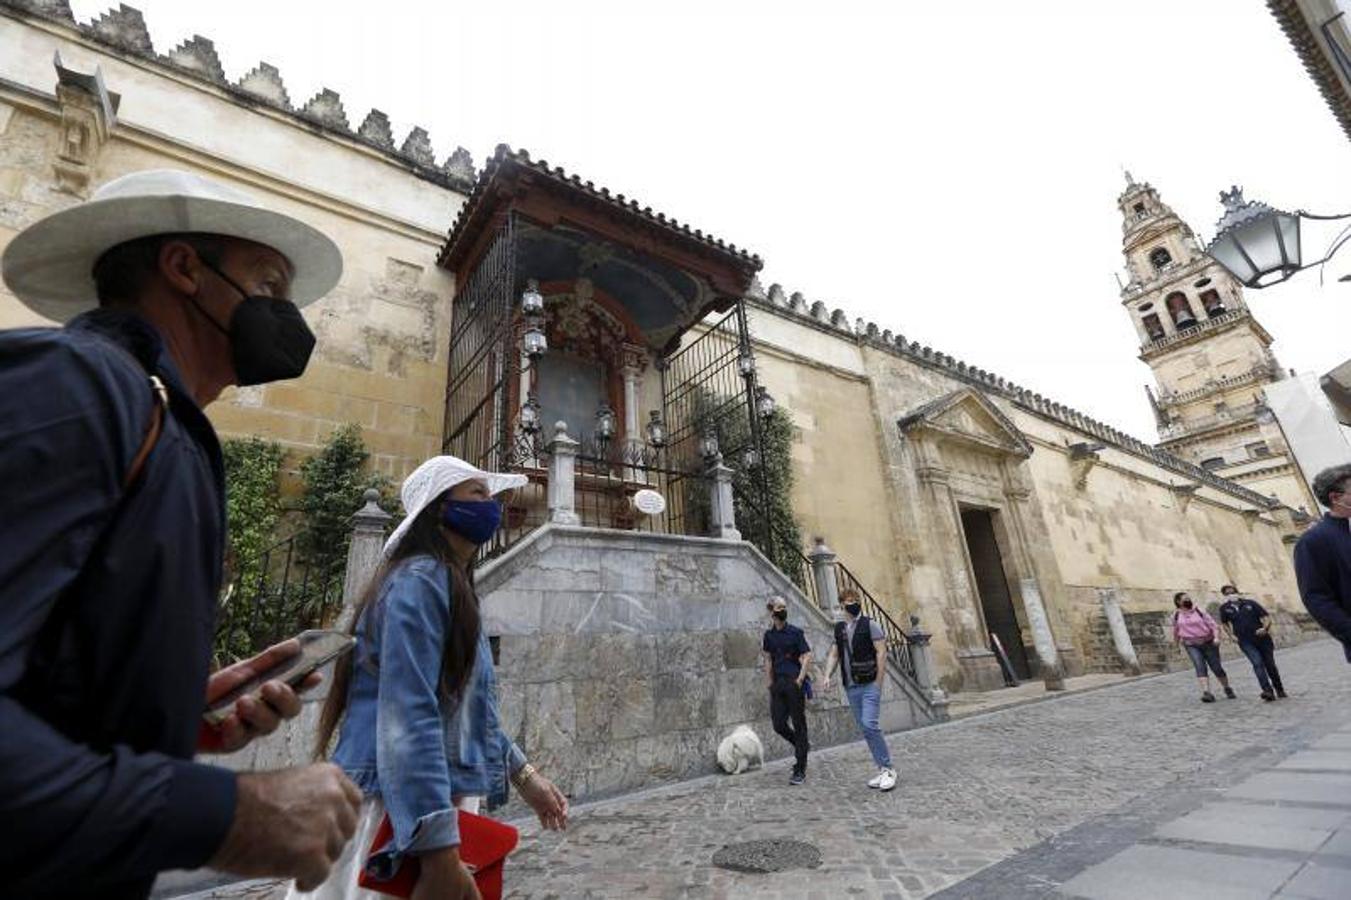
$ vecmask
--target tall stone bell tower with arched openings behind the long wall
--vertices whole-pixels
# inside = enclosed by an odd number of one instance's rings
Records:
[[[1156,389],[1146,392],[1159,449],[1290,507],[1317,508],[1266,407],[1263,388],[1285,373],[1243,286],[1148,182],[1125,173],[1116,203],[1128,274],[1121,304],[1154,372]]]

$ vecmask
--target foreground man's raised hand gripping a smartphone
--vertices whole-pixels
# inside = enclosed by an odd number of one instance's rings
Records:
[[[267,647],[253,659],[226,666],[207,681],[207,705],[297,653],[300,653],[300,642],[292,638]],[[315,672],[305,678],[300,689],[313,688],[322,680],[323,676]],[[240,697],[235,703],[235,711],[219,726],[212,727],[204,723],[197,734],[197,750],[200,753],[234,753],[254,738],[276,731],[282,719],[293,719],[300,715],[300,697],[289,685],[281,681],[269,681],[259,693],[261,700]]]

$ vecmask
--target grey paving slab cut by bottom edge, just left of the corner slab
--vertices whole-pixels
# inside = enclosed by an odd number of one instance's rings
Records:
[[[1062,892],[1086,900],[1266,900],[1300,865],[1135,845],[1085,869]]]

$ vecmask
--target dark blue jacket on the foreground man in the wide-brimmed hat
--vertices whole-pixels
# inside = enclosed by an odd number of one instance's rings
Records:
[[[170,409],[142,474],[122,481]],[[220,446],[130,315],[0,332],[0,895],[145,897],[203,865],[235,778],[192,762],[224,538]]]

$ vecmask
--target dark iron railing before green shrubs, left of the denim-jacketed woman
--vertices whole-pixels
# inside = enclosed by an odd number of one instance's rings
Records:
[[[347,550],[312,561],[304,532],[282,538],[253,558],[235,561],[216,614],[216,662],[261,653],[305,628],[331,624],[342,609]]]

